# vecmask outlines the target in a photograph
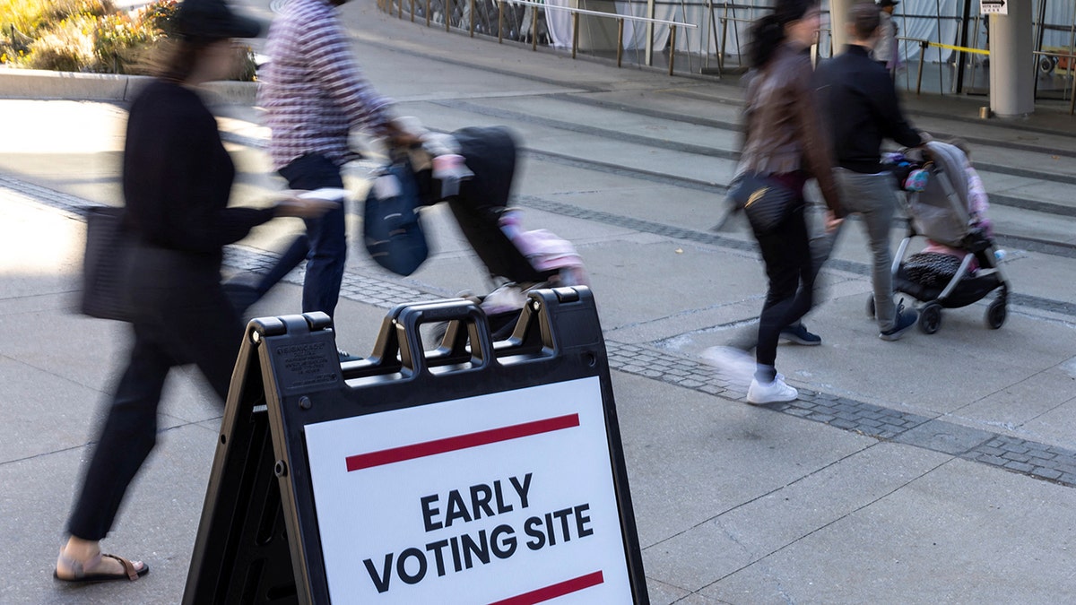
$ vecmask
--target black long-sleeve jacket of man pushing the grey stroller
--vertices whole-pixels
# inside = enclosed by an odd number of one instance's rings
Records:
[[[914,147],[923,143],[901,112],[889,72],[858,44],[818,69],[822,113],[833,132],[837,160],[854,172],[877,173],[882,139]]]

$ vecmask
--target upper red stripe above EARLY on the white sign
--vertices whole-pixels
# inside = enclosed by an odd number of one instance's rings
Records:
[[[388,450],[350,455],[345,460],[348,462],[348,472],[351,473],[352,470],[360,470],[363,468],[392,464],[394,462],[402,462],[405,460],[414,460],[416,458],[454,452],[456,450],[465,450],[467,448],[475,448],[478,446],[487,446],[498,441],[519,439],[520,437],[552,433],[553,431],[571,428],[572,426],[579,426],[578,413],[548,418],[546,420],[536,420],[534,422],[524,422],[523,424],[513,424],[512,426],[502,426],[500,428],[491,428],[489,431],[480,431],[478,433],[470,433],[467,435],[456,435],[455,437],[445,437],[443,439],[413,444]]]

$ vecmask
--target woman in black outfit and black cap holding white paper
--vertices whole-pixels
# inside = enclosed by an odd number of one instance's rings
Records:
[[[128,267],[134,344],[68,522],[60,580],[136,580],[150,571],[102,555],[99,540],[154,447],[169,369],[197,364],[222,400],[227,395],[243,326],[221,287],[222,249],[274,216],[328,209],[301,199],[227,207],[236,170],[194,87],[235,73],[230,38],[253,38],[260,26],[223,0],[186,0],[176,22],[182,39],[164,73],[130,108],[123,185],[125,223],[137,240]]]

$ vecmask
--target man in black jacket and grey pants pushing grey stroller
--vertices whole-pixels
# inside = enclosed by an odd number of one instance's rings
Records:
[[[893,302],[890,226],[896,210],[896,183],[881,165],[881,142],[892,139],[912,147],[929,136],[912,129],[901,112],[896,89],[886,68],[870,58],[879,31],[878,8],[853,4],[848,14],[850,43],[818,69],[822,113],[833,133],[837,187],[849,212],[859,213],[874,257],[875,313],[879,337],[896,340],[915,325],[917,313]],[[839,229],[824,237],[832,250]]]

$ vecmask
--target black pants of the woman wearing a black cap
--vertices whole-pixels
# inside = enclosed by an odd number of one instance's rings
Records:
[[[132,256],[134,344],[68,521],[71,535],[89,540],[109,533],[156,444],[169,370],[197,364],[223,402],[243,335],[221,289],[218,258],[150,248]]]

